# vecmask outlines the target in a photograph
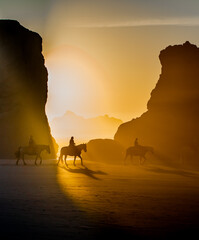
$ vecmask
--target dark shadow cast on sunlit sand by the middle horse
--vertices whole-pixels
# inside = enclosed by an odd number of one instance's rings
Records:
[[[67,172],[70,173],[81,173],[86,175],[87,177],[90,177],[92,179],[95,180],[101,180],[100,178],[96,177],[95,175],[107,175],[107,173],[102,172],[102,171],[93,171],[89,168],[87,168],[86,166],[82,167],[82,168],[76,168],[76,169],[72,169],[70,167],[66,167],[66,166],[60,166],[60,168],[64,169]]]

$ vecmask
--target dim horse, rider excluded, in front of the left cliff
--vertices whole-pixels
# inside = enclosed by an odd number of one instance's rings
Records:
[[[35,145],[35,146],[26,146],[26,147],[19,147],[18,151],[15,153],[17,161],[16,165],[18,165],[19,160],[22,159],[24,165],[26,162],[24,160],[24,155],[36,155],[35,158],[35,165],[37,165],[37,159],[40,158],[40,165],[42,163],[41,152],[46,150],[50,154],[50,147],[49,145]]]

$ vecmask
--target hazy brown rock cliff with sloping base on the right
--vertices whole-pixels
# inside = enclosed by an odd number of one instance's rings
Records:
[[[152,145],[176,162],[197,162],[199,156],[199,48],[189,42],[169,46],[159,56],[162,72],[148,101],[148,111],[122,124],[115,140]],[[199,162],[198,162],[199,163]]]

